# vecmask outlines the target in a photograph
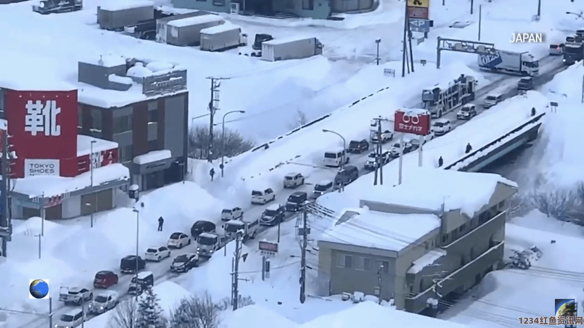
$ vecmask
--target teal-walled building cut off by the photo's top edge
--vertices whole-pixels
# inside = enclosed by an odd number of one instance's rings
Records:
[[[328,19],[335,13],[367,12],[375,0],[172,0],[175,8],[244,13],[268,18]]]

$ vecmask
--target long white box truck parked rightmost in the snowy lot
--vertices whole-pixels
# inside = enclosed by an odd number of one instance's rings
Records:
[[[278,61],[322,55],[322,43],[315,37],[291,37],[262,42],[262,59]]]

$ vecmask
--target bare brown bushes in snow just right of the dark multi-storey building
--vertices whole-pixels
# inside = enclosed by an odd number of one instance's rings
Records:
[[[189,131],[189,157],[206,159],[210,141],[209,128],[203,126],[192,127]],[[246,140],[239,132],[225,128],[225,135],[221,129],[214,131],[213,159],[221,156],[233,157],[249,151],[253,142]]]

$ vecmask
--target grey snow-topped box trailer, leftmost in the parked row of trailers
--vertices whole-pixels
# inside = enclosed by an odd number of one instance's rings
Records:
[[[98,25],[105,30],[124,30],[124,26],[134,25],[154,18],[154,5],[150,1],[112,2],[98,6]]]

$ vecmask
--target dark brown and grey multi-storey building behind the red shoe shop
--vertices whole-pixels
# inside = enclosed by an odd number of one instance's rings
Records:
[[[160,66],[159,62],[154,64]],[[127,93],[121,97],[131,100],[116,102],[114,98],[100,104],[80,99],[78,131],[117,142],[119,162],[130,169],[132,183],[141,190],[179,182],[186,174],[186,69],[173,66],[154,67],[148,62],[120,58],[79,62],[79,82],[106,92]],[[155,75],[152,69],[157,71]]]

